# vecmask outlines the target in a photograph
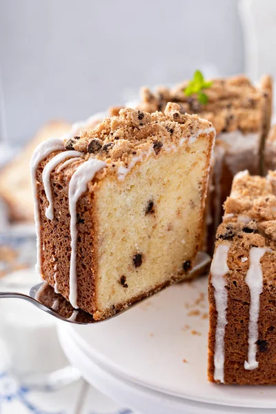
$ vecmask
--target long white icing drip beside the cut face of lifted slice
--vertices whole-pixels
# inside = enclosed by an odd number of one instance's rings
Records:
[[[70,211],[70,233],[71,233],[71,259],[70,259],[70,304],[77,308],[77,277],[76,277],[76,257],[77,257],[77,201],[87,190],[87,184],[93,179],[96,172],[106,166],[106,163],[99,159],[88,159],[83,162],[74,172],[70,179],[68,197]]]

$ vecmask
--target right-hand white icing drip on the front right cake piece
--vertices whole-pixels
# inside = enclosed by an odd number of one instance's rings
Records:
[[[246,284],[250,290],[249,327],[248,327],[248,361],[244,361],[244,368],[253,370],[259,366],[256,361],[258,319],[259,319],[259,295],[263,290],[263,272],[260,260],[264,254],[271,251],[269,248],[253,247],[250,249],[250,266],[246,273]]]

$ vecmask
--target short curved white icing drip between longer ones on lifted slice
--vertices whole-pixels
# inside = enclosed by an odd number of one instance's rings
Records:
[[[52,206],[52,188],[50,184],[51,172],[66,158],[74,158],[74,157],[80,157],[80,156],[81,156],[81,152],[79,151],[61,152],[60,154],[57,154],[55,157],[53,157],[43,169],[42,181],[43,181],[43,186],[44,186],[44,190],[46,193],[46,197],[49,203],[48,207],[46,207],[45,215],[49,220],[52,220],[54,218],[54,209]]]

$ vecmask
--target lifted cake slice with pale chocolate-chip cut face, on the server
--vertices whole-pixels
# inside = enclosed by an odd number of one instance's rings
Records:
[[[104,319],[193,267],[215,129],[168,103],[151,115],[122,109],[74,134],[32,157],[37,269],[72,306]]]

